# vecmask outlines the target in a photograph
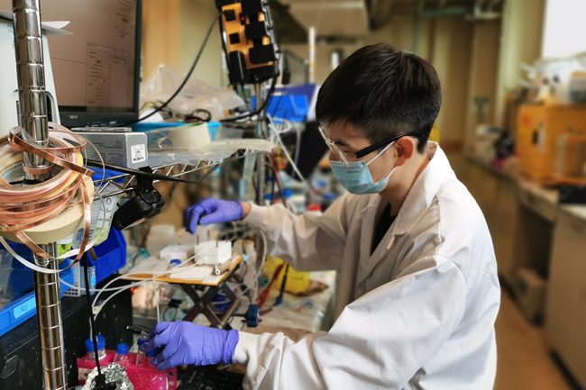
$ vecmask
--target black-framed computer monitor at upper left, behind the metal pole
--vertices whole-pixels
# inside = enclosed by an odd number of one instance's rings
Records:
[[[12,1],[0,0],[0,10],[12,10]],[[41,19],[69,21],[65,29],[73,32],[48,37],[61,124],[136,121],[141,0],[46,0]]]

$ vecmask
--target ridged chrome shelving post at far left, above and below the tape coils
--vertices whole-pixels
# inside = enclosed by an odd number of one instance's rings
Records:
[[[23,139],[37,146],[47,146],[49,125],[39,0],[13,0],[13,21]],[[30,168],[44,168],[47,162],[31,153],[24,153],[23,164]],[[30,182],[39,182],[47,177],[27,174],[25,178]],[[42,248],[55,256],[54,244],[46,244]],[[35,255],[34,262],[44,268],[58,268],[55,259]],[[45,389],[67,390],[59,275],[35,272],[34,280]]]

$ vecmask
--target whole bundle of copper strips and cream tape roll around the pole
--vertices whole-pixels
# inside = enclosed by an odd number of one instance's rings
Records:
[[[41,258],[52,258],[39,244],[69,237],[83,224],[78,260],[87,249],[94,195],[93,172],[84,167],[87,141],[57,123],[50,123],[47,147],[29,144],[21,134],[22,128],[16,127],[0,139],[0,235],[23,242]],[[48,165],[23,167],[25,152]],[[50,178],[23,186],[24,173]]]

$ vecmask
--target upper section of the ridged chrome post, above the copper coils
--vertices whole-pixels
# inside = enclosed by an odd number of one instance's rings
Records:
[[[13,26],[23,139],[41,147],[47,146],[49,123],[39,0],[13,0]],[[24,154],[23,162],[26,167],[46,166],[43,159],[31,153]],[[27,178],[42,180],[43,177]]]

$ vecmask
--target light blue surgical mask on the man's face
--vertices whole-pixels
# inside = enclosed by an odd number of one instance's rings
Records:
[[[340,181],[342,186],[352,194],[378,194],[385,189],[389,183],[389,177],[395,172],[397,167],[392,168],[389,175],[381,178],[375,182],[372,180],[371,170],[369,165],[375,159],[378,159],[395,142],[389,143],[386,148],[380,150],[380,153],[374,156],[369,162],[366,161],[350,161],[348,165],[341,161],[330,160],[330,166],[334,176]]]

